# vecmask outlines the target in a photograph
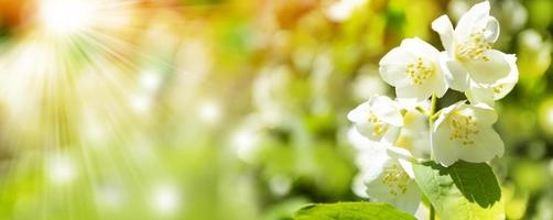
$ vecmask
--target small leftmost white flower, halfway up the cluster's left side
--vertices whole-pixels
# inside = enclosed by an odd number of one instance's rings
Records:
[[[372,141],[394,136],[403,125],[398,103],[386,96],[371,97],[351,110],[347,118],[360,134]]]

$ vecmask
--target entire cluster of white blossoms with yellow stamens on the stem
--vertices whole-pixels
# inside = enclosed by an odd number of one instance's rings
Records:
[[[360,151],[356,186],[362,187],[362,196],[414,212],[421,193],[411,162],[424,157],[413,152],[420,144],[430,145],[430,157],[442,166],[459,160],[488,162],[503,154],[503,142],[492,129],[494,101],[512,90],[519,73],[514,55],[492,48],[499,23],[489,10],[488,1],[474,6],[455,29],[447,15],[436,19],[432,29],[444,52],[415,37],[382,57],[380,76],[395,87],[398,98],[373,96],[347,116],[355,124],[350,140]],[[435,112],[436,98],[449,88],[465,92],[469,102]],[[427,125],[415,123],[416,116],[427,119]],[[406,139],[414,144],[405,145]]]

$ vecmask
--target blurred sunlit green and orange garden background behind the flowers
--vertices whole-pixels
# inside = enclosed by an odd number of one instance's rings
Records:
[[[0,219],[276,220],[361,200],[347,111],[393,95],[383,54],[441,48],[430,23],[476,2],[0,0]],[[491,3],[520,69],[492,167],[509,219],[553,219],[553,1]]]

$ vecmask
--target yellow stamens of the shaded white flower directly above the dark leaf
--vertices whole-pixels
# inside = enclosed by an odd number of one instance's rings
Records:
[[[475,143],[474,135],[478,134],[476,119],[473,116],[466,116],[460,112],[454,112],[448,120],[449,140],[458,140],[463,145],[471,145]]]

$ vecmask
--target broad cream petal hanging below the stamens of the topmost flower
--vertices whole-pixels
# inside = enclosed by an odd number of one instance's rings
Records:
[[[484,55],[489,61],[468,61],[465,65],[475,82],[495,84],[511,72],[511,66],[502,52],[487,50]]]

